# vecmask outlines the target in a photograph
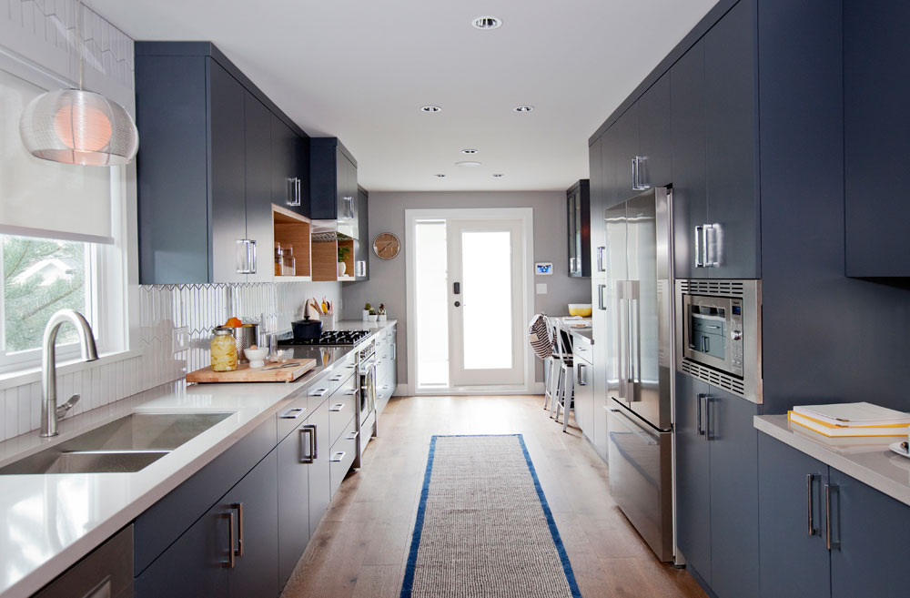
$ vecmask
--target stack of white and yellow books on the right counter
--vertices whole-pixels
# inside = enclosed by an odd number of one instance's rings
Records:
[[[829,438],[907,436],[910,413],[872,403],[796,406],[787,419]]]

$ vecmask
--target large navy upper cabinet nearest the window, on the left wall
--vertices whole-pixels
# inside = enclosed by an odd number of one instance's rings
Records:
[[[140,283],[272,280],[272,204],[307,208],[303,131],[208,43],[137,42],[135,76]]]

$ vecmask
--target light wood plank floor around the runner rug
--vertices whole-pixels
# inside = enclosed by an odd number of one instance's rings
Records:
[[[564,434],[540,396],[497,396],[392,399],[363,469],[341,484],[282,596],[398,598],[430,436],[511,432],[524,435],[584,598],[705,595],[654,558],[581,431]]]

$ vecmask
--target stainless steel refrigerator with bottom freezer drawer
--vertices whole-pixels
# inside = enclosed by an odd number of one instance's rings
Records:
[[[610,492],[662,561],[673,560],[672,191],[603,211],[602,297]]]

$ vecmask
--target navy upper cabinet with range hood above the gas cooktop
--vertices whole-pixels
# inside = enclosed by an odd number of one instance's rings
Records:
[[[336,137],[310,139],[310,207],[314,220],[338,220],[338,231],[358,237],[357,160]]]

